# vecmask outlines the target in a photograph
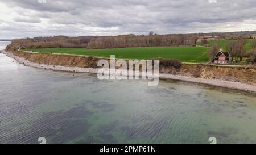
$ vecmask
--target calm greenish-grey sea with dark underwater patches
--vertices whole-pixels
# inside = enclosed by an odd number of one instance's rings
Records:
[[[100,81],[0,54],[0,143],[256,143],[256,96],[162,80]]]

